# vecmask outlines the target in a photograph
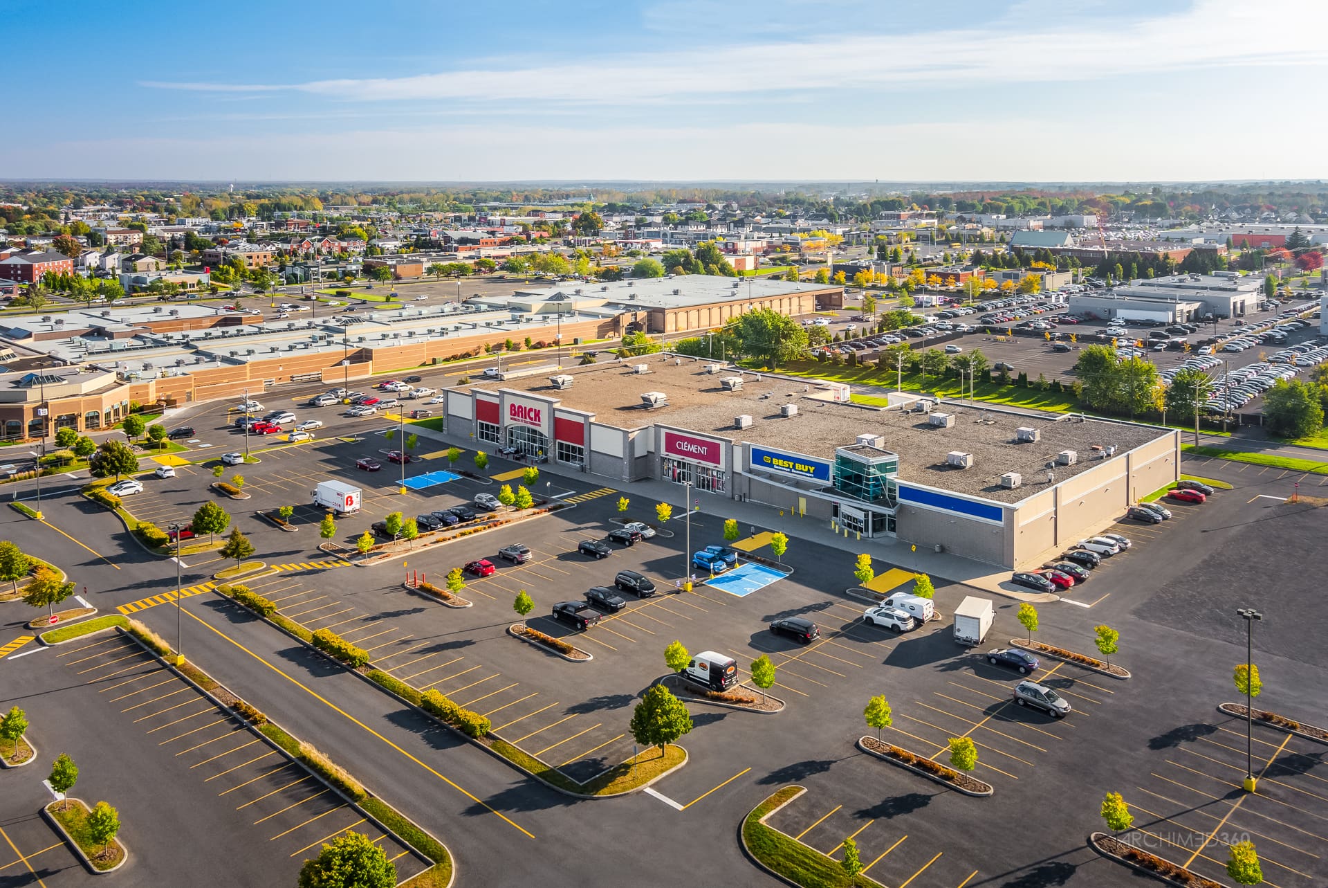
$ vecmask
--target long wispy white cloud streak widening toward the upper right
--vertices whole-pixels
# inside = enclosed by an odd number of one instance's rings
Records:
[[[847,35],[706,49],[604,55],[539,66],[471,68],[405,77],[295,84],[146,81],[191,92],[296,92],[329,100],[527,101],[631,105],[701,97],[797,94],[920,84],[950,86],[1094,81],[1125,74],[1230,65],[1328,65],[1321,0],[1284,0],[1270,28],[1267,9],[1198,0],[1183,12],[1113,25],[1109,17],[1053,16],[1025,3],[1001,25],[912,35]],[[1045,15],[1035,15],[1046,11]],[[1044,19],[1050,23],[1044,24]]]

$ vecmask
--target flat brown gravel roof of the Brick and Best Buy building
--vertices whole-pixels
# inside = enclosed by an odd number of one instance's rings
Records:
[[[749,441],[833,459],[837,447],[857,443],[859,435],[876,435],[882,448],[899,455],[899,476],[956,493],[968,493],[1004,502],[1017,502],[1045,487],[1046,464],[1061,451],[1076,451],[1073,465],[1057,465],[1056,481],[1064,481],[1093,468],[1094,445],[1116,447],[1117,453],[1134,449],[1170,435],[1169,429],[1134,423],[1085,419],[1080,415],[1013,411],[944,401],[935,412],[951,413],[948,428],[934,428],[926,413],[866,408],[857,404],[818,400],[818,382],[770,374],[725,368],[706,372],[709,362],[649,355],[623,362],[602,363],[575,370],[571,388],[555,389],[547,378],[531,376],[473,386],[510,388],[556,397],[563,407],[595,413],[595,421],[620,428],[640,428],[653,423],[693,432],[713,433],[733,441]],[[645,374],[633,367],[644,364]],[[720,382],[742,376],[741,391],[728,391]],[[647,409],[641,393],[664,392],[668,404]],[[781,416],[782,404],[795,404],[797,415]],[[734,417],[746,415],[752,425],[740,429]],[[1016,443],[1016,428],[1038,429],[1040,440]],[[973,465],[952,468],[946,456],[954,451],[971,453]],[[1000,487],[1000,476],[1019,472],[1020,488]]]

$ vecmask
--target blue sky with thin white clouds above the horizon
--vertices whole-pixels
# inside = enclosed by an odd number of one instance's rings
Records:
[[[3,178],[1328,178],[1323,0],[62,8]]]

